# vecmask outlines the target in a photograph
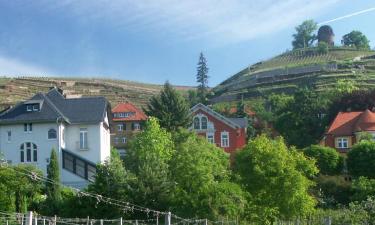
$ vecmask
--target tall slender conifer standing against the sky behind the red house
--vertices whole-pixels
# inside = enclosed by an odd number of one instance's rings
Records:
[[[207,103],[207,89],[208,89],[208,67],[207,60],[201,52],[197,66],[197,83],[198,83],[198,96],[200,102]]]

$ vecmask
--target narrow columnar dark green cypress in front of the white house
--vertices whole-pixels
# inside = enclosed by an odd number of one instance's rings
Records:
[[[46,181],[46,210],[49,215],[57,215],[59,213],[61,203],[61,185],[60,185],[60,169],[55,149],[51,151],[50,162],[47,166]]]

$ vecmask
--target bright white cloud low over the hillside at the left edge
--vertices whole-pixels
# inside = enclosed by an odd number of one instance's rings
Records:
[[[17,59],[11,59],[0,55],[1,76],[47,76],[50,71]]]

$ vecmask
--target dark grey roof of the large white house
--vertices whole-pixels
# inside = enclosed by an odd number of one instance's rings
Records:
[[[27,103],[41,102],[38,112],[26,111]],[[56,88],[38,93],[0,115],[0,124],[22,122],[50,122],[62,118],[67,123],[99,123],[103,121],[109,104],[104,97],[65,98]]]

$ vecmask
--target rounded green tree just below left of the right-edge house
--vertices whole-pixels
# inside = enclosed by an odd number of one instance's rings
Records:
[[[303,153],[316,160],[320,174],[336,175],[343,169],[343,158],[333,148],[311,145]]]

